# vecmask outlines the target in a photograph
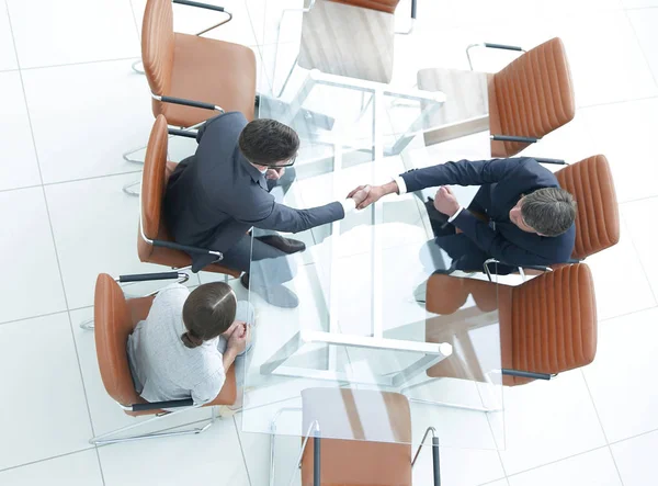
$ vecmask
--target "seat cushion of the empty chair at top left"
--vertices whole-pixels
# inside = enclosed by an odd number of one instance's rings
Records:
[[[256,102],[253,50],[239,44],[175,33],[171,88],[166,94],[213,103],[226,112],[239,111],[251,121]],[[154,100],[154,114],[160,113],[175,126],[195,125],[218,114]]]

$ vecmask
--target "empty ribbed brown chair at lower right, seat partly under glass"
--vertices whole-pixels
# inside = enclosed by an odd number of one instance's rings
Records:
[[[513,386],[591,363],[597,352],[597,304],[594,284],[586,263],[546,272],[522,285],[509,286],[434,274],[427,287],[427,309],[452,315],[473,295],[481,312],[498,308],[503,384]],[[468,341],[474,327],[454,326],[444,319],[426,323],[429,342]],[[431,377],[458,377],[484,381],[475,355],[455,352],[428,370]]]

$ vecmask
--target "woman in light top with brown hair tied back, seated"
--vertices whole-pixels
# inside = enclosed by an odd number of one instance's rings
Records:
[[[250,304],[226,283],[167,286],[128,338],[135,389],[147,402],[214,400],[234,361],[240,382],[252,324]]]

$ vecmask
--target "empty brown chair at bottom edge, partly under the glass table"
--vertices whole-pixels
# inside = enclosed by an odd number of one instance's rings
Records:
[[[411,411],[405,395],[307,388],[302,392],[302,415],[303,486],[411,486],[418,453],[412,457]],[[439,439],[432,427],[423,441],[430,432],[433,484],[440,486]]]

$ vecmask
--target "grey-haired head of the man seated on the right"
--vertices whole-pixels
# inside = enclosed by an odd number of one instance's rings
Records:
[[[537,189],[510,210],[510,221],[527,233],[559,236],[576,221],[576,201],[564,189]]]

